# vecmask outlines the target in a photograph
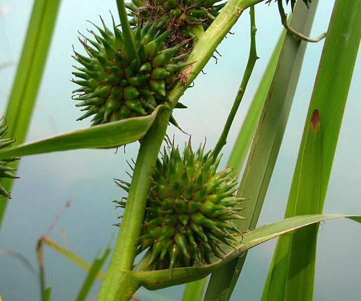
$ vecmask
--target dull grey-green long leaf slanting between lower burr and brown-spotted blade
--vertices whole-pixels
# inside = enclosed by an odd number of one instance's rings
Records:
[[[298,2],[290,26],[308,36],[317,3],[313,1],[308,10],[303,3]],[[244,211],[247,220],[238,223],[241,231],[256,227],[281,146],[305,49],[305,42],[286,34],[237,193],[237,196],[250,198]],[[205,300],[229,300],[246,255],[222,266],[212,274]]]

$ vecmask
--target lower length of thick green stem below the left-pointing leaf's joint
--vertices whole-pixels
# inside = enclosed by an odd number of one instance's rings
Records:
[[[139,285],[128,283],[129,271],[133,269],[133,261],[136,255],[141,226],[145,214],[146,196],[149,192],[149,171],[158,156],[160,145],[163,141],[168,125],[170,110],[163,109],[143,137],[137,162],[134,169],[132,183],[130,185],[126,210],[115,245],[113,257],[106,273],[98,300],[120,300],[124,299],[128,285]],[[130,296],[131,297],[131,296]]]

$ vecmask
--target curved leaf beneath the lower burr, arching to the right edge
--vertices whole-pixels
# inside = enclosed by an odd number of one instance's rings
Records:
[[[321,221],[335,219],[335,218],[349,218],[361,223],[361,216],[350,216],[343,214],[310,214],[299,215],[291,218],[287,218],[281,221],[277,221],[268,225],[261,226],[252,231],[246,232],[242,236],[236,237],[240,243],[235,248],[225,247],[223,250],[227,253],[224,259],[213,258],[213,263],[204,266],[175,268],[172,269],[172,278],[169,278],[169,270],[158,271],[136,271],[133,273],[136,279],[147,289],[160,289],[172,285],[183,284],[191,281],[195,281],[206,277],[209,273],[215,270],[217,267],[222,266],[233,260],[236,257],[241,256],[244,252],[253,248],[267,240],[280,236],[282,234],[294,231],[296,229],[319,223]],[[146,263],[141,263],[146,266]]]

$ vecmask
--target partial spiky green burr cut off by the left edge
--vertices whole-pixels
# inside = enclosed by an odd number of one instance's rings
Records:
[[[6,119],[5,117],[2,117],[0,119],[0,149],[9,146],[10,144],[15,142],[15,139],[13,138],[3,139],[7,133],[8,133],[8,126],[6,125]],[[2,178],[10,178],[10,179],[19,178],[12,174],[12,172],[16,171],[16,169],[7,166],[9,162],[13,162],[16,160],[19,160],[19,158],[2,159],[2,161],[0,161],[0,180]],[[3,187],[1,182],[0,182],[0,196],[9,199],[11,198],[10,193]]]

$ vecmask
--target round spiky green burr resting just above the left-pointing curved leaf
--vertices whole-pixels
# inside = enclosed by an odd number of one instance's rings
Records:
[[[88,56],[74,51],[74,59],[83,65],[74,66],[77,72],[73,72],[77,77],[73,82],[81,86],[73,91],[73,99],[85,111],[78,120],[94,115],[92,125],[97,125],[150,114],[169,101],[168,91],[177,73],[187,66],[182,63],[186,55],[177,56],[183,44],[165,48],[169,31],[159,31],[155,23],[147,22],[134,29],[136,53],[130,55],[127,43],[132,42],[114,20],[113,31],[101,21],[103,28],[95,26],[100,35],[90,31],[94,40],[79,39]]]

